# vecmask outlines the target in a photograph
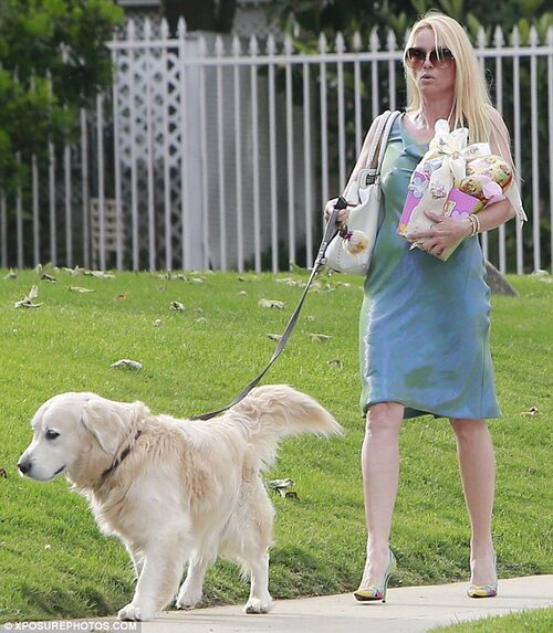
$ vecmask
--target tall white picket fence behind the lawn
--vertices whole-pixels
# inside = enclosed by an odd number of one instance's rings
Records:
[[[288,38],[181,23],[170,39],[165,22],[131,22],[109,44],[113,91],[81,112],[79,143],[50,147],[44,165],[32,157],[30,181],[0,193],[0,265],[309,266],[323,201],[343,189],[373,117],[405,102],[401,44],[321,35],[299,53]],[[484,254],[502,272],[550,267],[540,224],[547,214],[553,225],[553,30],[546,41],[532,30],[528,45],[500,29],[490,45],[481,32],[477,50],[525,166],[530,217],[522,231],[482,235]]]

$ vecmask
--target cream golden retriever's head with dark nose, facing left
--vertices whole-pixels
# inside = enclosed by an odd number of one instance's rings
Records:
[[[33,416],[33,439],[19,460],[19,472],[40,482],[61,473],[74,482],[83,475],[93,479],[113,464],[147,414],[142,402],[112,402],[87,392],[54,395]]]

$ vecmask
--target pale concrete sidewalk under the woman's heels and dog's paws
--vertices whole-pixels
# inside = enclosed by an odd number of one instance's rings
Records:
[[[501,580],[499,595],[490,599],[470,599],[466,587],[455,583],[389,589],[386,604],[358,603],[351,593],[279,600],[265,615],[246,615],[240,605],[170,611],[128,629],[106,629],[113,619],[87,622],[101,622],[104,631],[140,633],[419,633],[440,624],[553,605],[553,574]]]

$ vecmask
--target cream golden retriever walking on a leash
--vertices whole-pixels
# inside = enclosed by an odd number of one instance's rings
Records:
[[[311,397],[265,386],[209,422],[153,415],[143,402],[87,392],[54,395],[36,411],[22,476],[65,473],[101,530],[127,549],[137,579],[121,620],[152,620],[175,598],[192,609],[220,555],[250,577],[247,613],[267,613],[274,509],[261,474],[279,442],[301,433],[336,435],[341,425]]]

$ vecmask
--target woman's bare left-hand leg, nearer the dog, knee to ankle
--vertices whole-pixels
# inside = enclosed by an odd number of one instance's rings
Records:
[[[404,407],[384,402],[367,413],[362,449],[363,489],[367,523],[367,560],[361,589],[382,584],[389,562],[389,531],[399,481],[399,428]]]

